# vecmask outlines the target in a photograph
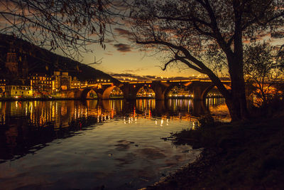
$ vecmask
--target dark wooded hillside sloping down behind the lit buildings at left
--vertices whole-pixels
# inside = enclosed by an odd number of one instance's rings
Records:
[[[53,75],[54,71],[67,71],[69,75],[76,76],[79,80],[111,80],[117,83],[119,80],[112,78],[107,73],[84,65],[78,61],[59,56],[44,48],[35,46],[27,41],[23,41],[13,36],[0,34],[0,75],[1,78],[14,77],[11,76],[9,70],[6,69],[6,55],[9,52],[17,53],[19,61],[28,63],[28,74],[43,73]],[[21,57],[21,58],[20,58]],[[99,66],[99,65],[97,65]]]

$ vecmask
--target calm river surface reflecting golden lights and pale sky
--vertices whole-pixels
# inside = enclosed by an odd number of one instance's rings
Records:
[[[208,109],[225,110],[215,106],[222,101],[0,102],[0,186],[137,189],[152,184],[200,153],[160,138],[192,127]]]

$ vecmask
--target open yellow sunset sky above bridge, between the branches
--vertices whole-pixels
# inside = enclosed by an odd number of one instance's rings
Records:
[[[119,80],[135,78],[137,80],[153,80],[155,78],[189,78],[192,75],[200,75],[195,70],[188,69],[182,63],[176,68],[162,70],[163,59],[155,56],[154,52],[140,51],[135,44],[127,38],[127,28],[114,28],[115,38],[109,37],[110,42],[106,43],[104,50],[99,44],[89,46],[93,53],[84,53],[82,63],[94,63],[102,59],[99,65],[91,65],[93,68],[102,70]]]

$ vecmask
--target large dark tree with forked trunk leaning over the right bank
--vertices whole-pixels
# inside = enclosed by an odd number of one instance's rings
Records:
[[[277,0],[136,0],[132,29],[143,48],[166,53],[169,59],[163,70],[181,62],[208,75],[225,97],[232,120],[246,120],[244,40],[278,32],[283,26],[283,7],[283,1]],[[204,59],[212,50],[226,57],[231,91]]]

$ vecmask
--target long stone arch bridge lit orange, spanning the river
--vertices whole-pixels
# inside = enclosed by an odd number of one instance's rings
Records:
[[[231,81],[222,80],[222,83],[229,88]],[[138,90],[143,87],[151,88],[155,93],[155,100],[165,100],[168,93],[175,86],[186,88],[193,93],[194,100],[204,100],[209,90],[214,88],[211,80],[154,80],[151,82],[130,82],[130,83],[101,83],[82,86],[81,88],[64,90],[62,96],[67,98],[86,99],[90,90],[97,93],[98,99],[107,100],[110,98],[111,91],[119,88],[124,93],[124,99],[136,99]]]

